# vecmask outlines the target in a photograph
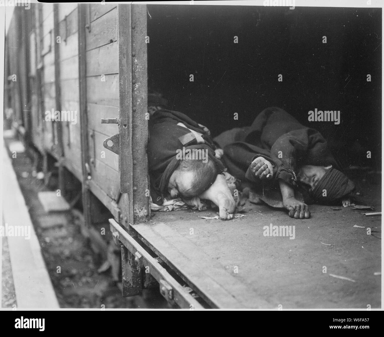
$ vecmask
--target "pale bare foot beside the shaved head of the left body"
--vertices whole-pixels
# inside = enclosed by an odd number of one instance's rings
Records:
[[[227,181],[222,174],[218,174],[215,182],[199,195],[200,199],[207,199],[218,206],[219,216],[222,220],[230,220],[235,212],[235,201],[228,188]]]

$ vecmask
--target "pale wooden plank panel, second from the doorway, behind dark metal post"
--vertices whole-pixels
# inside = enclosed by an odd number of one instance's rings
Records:
[[[79,106],[79,52],[78,52],[78,5],[58,5],[60,54],[61,109],[77,111],[77,123],[62,122],[63,152],[66,167],[82,180],[80,106]]]

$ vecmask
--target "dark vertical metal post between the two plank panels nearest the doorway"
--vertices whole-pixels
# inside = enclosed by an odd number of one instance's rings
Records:
[[[79,100],[80,100],[80,139],[81,139],[81,163],[83,179],[81,184],[83,198],[83,214],[85,225],[91,225],[91,192],[88,186],[89,146],[88,146],[88,115],[87,115],[87,79],[86,79],[86,34],[85,15],[88,4],[78,5],[79,27]]]

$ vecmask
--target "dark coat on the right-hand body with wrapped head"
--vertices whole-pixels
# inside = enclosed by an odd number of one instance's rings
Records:
[[[274,165],[274,181],[282,179],[293,186],[302,165],[338,168],[323,136],[281,108],[266,108],[250,127],[223,132],[214,141],[224,150],[228,172],[240,180],[257,181],[250,164],[259,156]]]

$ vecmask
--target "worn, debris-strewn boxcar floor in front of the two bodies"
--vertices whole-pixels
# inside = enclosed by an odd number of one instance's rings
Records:
[[[372,203],[381,210],[380,200]],[[234,221],[200,218],[214,210],[180,210],[155,212],[134,229],[213,307],[379,307],[381,217],[334,208],[311,205],[311,219],[295,220],[247,202],[246,217]],[[264,236],[270,224],[295,226],[295,239]]]

